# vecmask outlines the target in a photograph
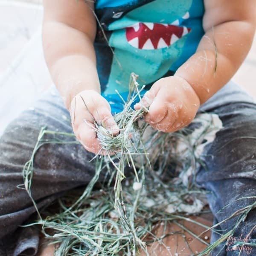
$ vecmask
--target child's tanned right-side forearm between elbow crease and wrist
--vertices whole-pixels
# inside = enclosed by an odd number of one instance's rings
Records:
[[[197,52],[175,73],[193,87],[201,104],[223,87],[240,67],[253,41],[255,20],[207,26]]]

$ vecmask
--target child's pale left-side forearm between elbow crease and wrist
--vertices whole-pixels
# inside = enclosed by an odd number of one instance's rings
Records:
[[[44,23],[43,38],[49,71],[67,108],[82,90],[100,92],[93,43],[86,34],[51,21]]]

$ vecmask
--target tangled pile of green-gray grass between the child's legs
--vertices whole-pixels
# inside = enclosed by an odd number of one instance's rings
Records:
[[[55,255],[137,255],[139,250],[149,255],[148,243],[163,244],[164,236],[154,236],[155,227],[160,223],[166,227],[178,220],[194,222],[188,215],[202,212],[207,204],[206,192],[195,185],[194,178],[197,169],[204,165],[201,153],[205,140],[218,131],[218,123],[213,115],[201,114],[189,127],[175,133],[155,131],[140,121],[147,109],[131,108],[142,89],[133,75],[124,111],[114,116],[120,128],[117,136],[95,122],[102,148],[108,154],[96,156],[95,175],[84,191],[74,190],[58,199],[59,211],[47,218],[41,217],[30,192],[34,155],[45,143],[78,142],[73,134],[42,128],[32,157],[23,169],[24,185],[40,216],[36,224],[41,224],[44,235],[59,245]],[[45,140],[46,134],[52,135],[52,140]],[[102,169],[108,170],[106,180],[100,189],[93,189]],[[254,207],[245,207],[239,214],[246,216]],[[218,232],[217,226],[204,227]],[[235,228],[214,244],[191,233],[208,245],[198,255],[211,253],[223,239],[232,236]],[[53,234],[48,230],[54,230]],[[167,246],[166,249],[169,250]]]

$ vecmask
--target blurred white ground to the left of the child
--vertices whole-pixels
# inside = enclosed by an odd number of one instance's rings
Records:
[[[52,83],[41,44],[42,18],[41,5],[0,1],[0,134]]]

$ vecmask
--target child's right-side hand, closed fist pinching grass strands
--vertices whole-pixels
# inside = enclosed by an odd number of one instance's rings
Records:
[[[192,122],[200,100],[185,79],[170,76],[156,81],[134,108],[142,106],[149,107],[144,119],[153,128],[173,132]]]

